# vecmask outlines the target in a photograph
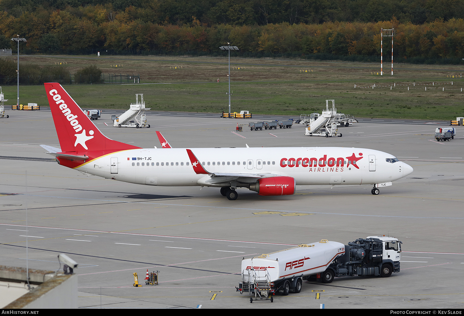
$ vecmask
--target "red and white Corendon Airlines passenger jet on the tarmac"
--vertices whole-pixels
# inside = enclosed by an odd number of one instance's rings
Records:
[[[140,148],[109,139],[57,82],[45,83],[61,148],[41,145],[58,164],[117,181],[153,186],[215,187],[229,200],[237,188],[261,196],[295,193],[296,185],[373,184],[380,187],[411,174],[393,155],[365,148]],[[201,189],[200,188],[200,189]]]

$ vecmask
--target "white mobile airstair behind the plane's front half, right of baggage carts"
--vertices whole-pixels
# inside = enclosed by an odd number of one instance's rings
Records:
[[[329,101],[332,101],[332,108],[330,109]],[[304,134],[308,136],[342,137],[341,133],[337,133],[338,115],[335,108],[335,100],[326,100],[325,105],[326,109],[322,111],[322,115],[317,118],[315,117],[315,120],[306,124],[306,132]]]

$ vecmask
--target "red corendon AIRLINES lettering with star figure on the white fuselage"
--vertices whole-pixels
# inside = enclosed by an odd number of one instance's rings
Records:
[[[322,158],[282,158],[280,159],[280,166],[281,167],[310,167],[309,171],[322,171],[326,172],[329,171],[343,171],[343,168],[349,167],[352,165],[354,168],[359,169],[358,167],[358,162],[361,160],[362,157],[362,152],[359,153],[359,156],[361,157],[356,157],[356,155],[353,152],[353,155],[343,158],[327,158],[327,155],[324,155]],[[345,160],[346,159],[346,160]],[[319,167],[319,168],[318,168]],[[327,167],[327,168],[325,168]]]

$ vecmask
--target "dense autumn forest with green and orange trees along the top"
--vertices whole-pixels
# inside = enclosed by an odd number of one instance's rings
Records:
[[[380,54],[464,62],[464,0],[0,0],[0,48],[26,54]],[[391,37],[384,38],[391,51]],[[358,58],[359,59],[359,58]]]

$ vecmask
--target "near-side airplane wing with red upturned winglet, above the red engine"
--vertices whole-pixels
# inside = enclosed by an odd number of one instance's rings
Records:
[[[190,149],[187,149],[187,154],[192,163],[193,171],[195,171],[196,174],[211,176],[211,179],[205,180],[207,183],[225,183],[238,179],[244,180],[245,182],[256,182],[260,178],[280,176],[273,173],[209,172],[203,167]]]

